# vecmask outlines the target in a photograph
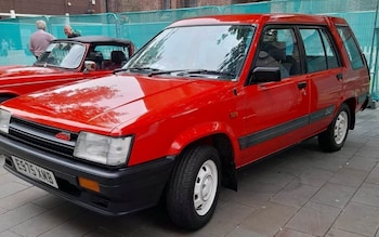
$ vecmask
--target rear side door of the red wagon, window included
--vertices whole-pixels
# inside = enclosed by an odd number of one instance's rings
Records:
[[[343,67],[332,38],[324,26],[301,26],[306,78],[310,82],[310,131],[317,134],[331,121],[342,97]]]

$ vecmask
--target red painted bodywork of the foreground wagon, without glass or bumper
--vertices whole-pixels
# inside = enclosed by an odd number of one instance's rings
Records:
[[[245,85],[260,30],[267,23],[310,23],[332,25],[342,19],[304,15],[232,15],[199,17],[180,21],[172,26],[209,25],[225,23],[257,24],[252,50],[238,81],[197,80],[167,77],[147,77],[121,73],[104,78],[74,83],[57,90],[47,90],[5,102],[1,107],[14,116],[62,131],[90,131],[113,136],[134,135],[128,166],[178,155],[194,141],[212,134],[224,134],[233,146],[236,167],[316,135],[331,122],[339,106],[349,98],[368,93],[367,70],[352,71],[348,54],[340,50],[341,68],[293,77],[287,82],[269,82],[264,85]],[[331,28],[334,37],[338,37]],[[343,49],[341,40],[336,40]],[[337,94],[328,91],[335,85],[322,83],[330,75],[342,73],[348,84]],[[74,75],[74,74],[73,74]],[[355,80],[349,80],[352,75]],[[58,76],[56,76],[58,77]],[[337,81],[337,79],[334,79]],[[306,81],[306,91],[297,83]],[[336,82],[337,83],[337,82]],[[285,102],[285,103],[283,103]],[[246,149],[240,149],[238,139],[263,131],[273,126],[309,115],[326,106],[336,105],[329,117],[285,135],[276,136]],[[354,104],[358,111],[361,104]]]

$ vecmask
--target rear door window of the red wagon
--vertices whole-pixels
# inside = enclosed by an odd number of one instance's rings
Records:
[[[336,49],[328,31],[324,28],[300,28],[304,43],[308,73],[339,67]]]

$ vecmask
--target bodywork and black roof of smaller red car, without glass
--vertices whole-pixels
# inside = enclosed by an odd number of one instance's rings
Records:
[[[87,52],[91,45],[129,45],[129,53],[132,54],[134,47],[131,42],[106,37],[81,37],[71,39],[57,39],[60,41],[78,41],[86,45]],[[123,43],[123,44],[122,44]],[[87,54],[87,53],[86,53]],[[130,55],[128,55],[130,56]],[[84,55],[86,57],[86,55]],[[21,94],[68,83],[71,81],[87,78],[97,78],[112,74],[112,69],[99,69],[93,71],[83,71],[84,57],[78,68],[65,69],[61,67],[43,66],[0,66],[0,102],[2,97],[14,97]]]

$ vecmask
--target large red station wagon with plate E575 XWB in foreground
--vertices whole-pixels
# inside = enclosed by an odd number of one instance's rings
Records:
[[[196,229],[236,169],[318,136],[341,149],[369,71],[343,18],[245,14],[173,23],[114,75],[0,106],[4,168],[118,215],[166,200]]]

